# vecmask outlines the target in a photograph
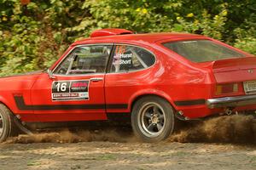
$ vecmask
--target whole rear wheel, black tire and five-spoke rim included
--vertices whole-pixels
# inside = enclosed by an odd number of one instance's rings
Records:
[[[131,111],[131,126],[135,135],[144,142],[168,138],[175,126],[172,105],[156,96],[138,99]]]

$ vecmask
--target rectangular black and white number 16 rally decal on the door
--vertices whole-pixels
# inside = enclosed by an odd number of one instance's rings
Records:
[[[89,80],[55,81],[52,83],[53,101],[88,100]]]

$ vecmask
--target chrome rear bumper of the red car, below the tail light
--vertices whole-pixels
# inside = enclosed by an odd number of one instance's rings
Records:
[[[256,94],[207,99],[207,107],[209,109],[236,107],[236,106],[243,106],[243,105],[256,105]]]

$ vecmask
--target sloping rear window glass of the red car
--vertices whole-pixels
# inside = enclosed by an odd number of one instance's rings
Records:
[[[163,45],[177,54],[182,55],[184,58],[196,63],[220,59],[241,58],[245,56],[244,54],[210,40],[166,42],[163,43]]]

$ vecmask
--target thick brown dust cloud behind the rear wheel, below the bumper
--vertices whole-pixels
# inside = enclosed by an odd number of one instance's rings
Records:
[[[169,142],[256,144],[254,116],[218,116],[184,127]]]

